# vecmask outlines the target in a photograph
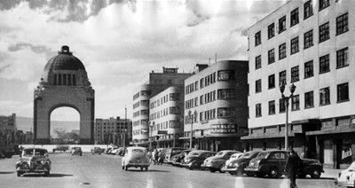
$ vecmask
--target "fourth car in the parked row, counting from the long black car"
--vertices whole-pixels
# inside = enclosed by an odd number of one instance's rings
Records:
[[[215,152],[209,152],[206,150],[193,150],[191,153],[188,153],[184,161],[181,162],[181,166],[189,169],[201,169],[201,164],[207,158],[214,156]],[[203,169],[203,168],[202,168]]]

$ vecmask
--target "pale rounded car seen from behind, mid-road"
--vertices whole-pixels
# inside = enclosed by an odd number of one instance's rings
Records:
[[[146,148],[139,146],[127,147],[122,158],[122,169],[128,170],[130,167],[148,170],[150,161],[146,155]]]

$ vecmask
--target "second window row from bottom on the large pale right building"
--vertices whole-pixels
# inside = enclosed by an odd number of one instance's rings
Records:
[[[347,67],[348,61],[348,48],[343,48],[336,51],[336,68]],[[314,75],[313,60],[304,63],[304,79],[310,78]],[[319,74],[324,74],[330,71],[329,67],[329,54],[319,57]],[[299,66],[291,67],[291,82],[298,82],[299,79]],[[279,85],[286,85],[286,70],[279,73]],[[268,77],[268,89],[275,88],[275,74]],[[256,80],[256,93],[262,91],[262,80]]]

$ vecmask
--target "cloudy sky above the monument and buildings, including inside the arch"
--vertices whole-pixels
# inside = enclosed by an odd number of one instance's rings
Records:
[[[132,117],[133,91],[162,67],[248,59],[248,27],[286,0],[0,0],[0,115],[33,117],[34,89],[62,45],[81,59],[95,118]],[[78,121],[59,108],[51,120]]]

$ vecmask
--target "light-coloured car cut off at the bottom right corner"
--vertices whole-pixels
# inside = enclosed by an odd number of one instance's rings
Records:
[[[352,161],[349,168],[343,169],[335,177],[335,184],[338,186],[355,187],[355,161]]]

